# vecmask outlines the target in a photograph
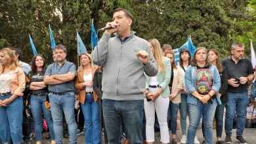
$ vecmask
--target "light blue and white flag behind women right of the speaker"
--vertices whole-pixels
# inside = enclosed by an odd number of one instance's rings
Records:
[[[196,46],[193,45],[193,42],[192,42],[192,39],[190,36],[188,37],[188,41],[186,41],[186,43],[184,43],[184,45],[182,45],[180,48],[173,50],[173,52],[175,52],[174,58],[175,58],[175,63],[177,65],[179,65],[179,63],[180,63],[180,51],[183,48],[188,48],[191,57],[194,56],[194,52],[196,51]]]

